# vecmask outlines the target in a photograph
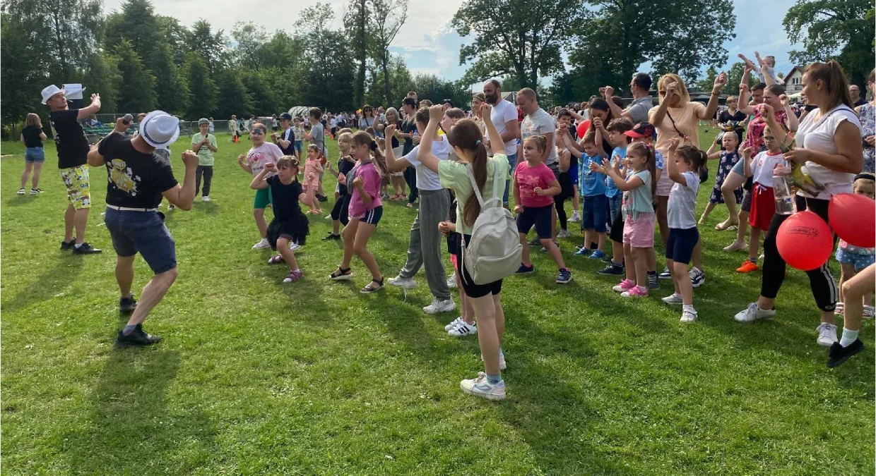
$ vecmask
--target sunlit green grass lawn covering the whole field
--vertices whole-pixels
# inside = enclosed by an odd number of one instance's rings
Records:
[[[713,229],[724,207],[701,230],[695,325],[661,304],[666,282],[642,301],[616,296],[600,263],[572,255],[578,239],[562,241],[567,286],[534,252],[539,271],[503,292],[509,398],[486,402],[459,390],[482,368],[477,340],[443,332],[456,314],[420,311],[431,300],[422,275],[407,298],[360,295],[368,277],[356,260],[352,282],[329,282],[341,259],[338,243],[319,240],[329,221],[311,219],[305,279],[280,283],[284,269],[250,249],[251,177],[235,160],[244,143],[221,138],[215,202],[168,216],[180,276],[147,321],[165,340],[147,349],[113,346],[124,319],[100,225],[105,172],[92,171],[88,228],[105,252],[61,253],[53,146],[46,193],[32,198],[14,194],[21,146],[0,144],[12,154],[0,158],[0,473],[876,472],[876,354],[824,366],[818,312],[795,270],[777,318],[733,321],[759,273],[738,276],[744,255],[721,251],[733,235]],[[370,246],[394,276],[414,212],[385,208]],[[139,258],[137,270],[138,291],[150,272]]]

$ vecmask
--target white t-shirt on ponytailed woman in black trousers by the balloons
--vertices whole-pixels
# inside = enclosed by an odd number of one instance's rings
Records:
[[[861,122],[855,111],[848,106],[841,104],[830,112],[825,113],[823,117],[816,119],[819,109],[815,109],[806,115],[800,127],[797,128],[797,135],[794,138],[795,145],[809,149],[811,151],[819,151],[827,154],[837,153],[837,144],[833,142],[833,136],[837,133],[839,124],[843,121],[849,121],[854,124],[858,130],[861,129]],[[851,184],[855,180],[855,174],[831,171],[824,165],[818,165],[815,162],[807,162],[803,165],[803,172],[808,173],[809,177],[826,188],[822,193],[818,193],[815,197],[808,193],[797,192],[798,195],[809,197],[811,199],[830,200],[830,197],[838,193],[851,193]]]

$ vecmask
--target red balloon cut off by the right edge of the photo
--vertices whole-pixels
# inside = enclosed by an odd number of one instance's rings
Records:
[[[840,193],[827,208],[830,228],[850,245],[876,247],[876,200],[866,195]]]

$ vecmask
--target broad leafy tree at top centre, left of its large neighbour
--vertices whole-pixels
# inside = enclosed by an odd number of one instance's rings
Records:
[[[562,71],[567,35],[586,14],[582,0],[466,0],[451,23],[463,38],[475,35],[459,52],[459,64],[475,60],[465,80],[512,75],[534,88]]]

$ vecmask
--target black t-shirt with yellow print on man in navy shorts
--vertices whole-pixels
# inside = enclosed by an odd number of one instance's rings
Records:
[[[104,138],[97,151],[106,161],[107,205],[128,208],[156,208],[161,193],[176,186],[170,162],[154,152],[134,149],[131,139],[113,133]]]

